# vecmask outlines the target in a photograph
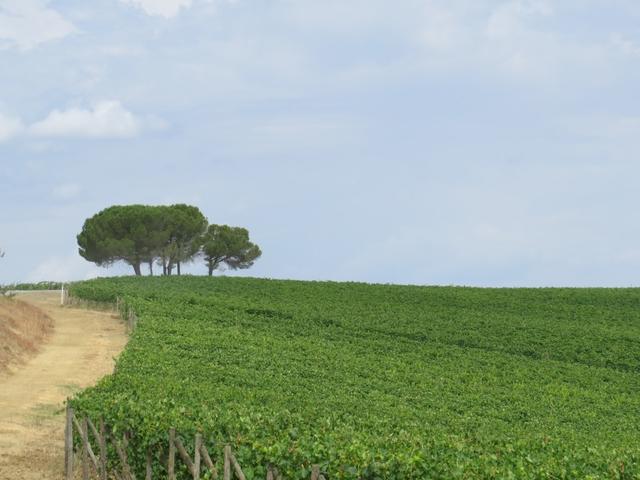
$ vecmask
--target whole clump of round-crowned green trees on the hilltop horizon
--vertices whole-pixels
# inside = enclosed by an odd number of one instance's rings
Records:
[[[148,265],[180,275],[185,263],[204,259],[209,275],[226,266],[249,268],[262,255],[246,228],[209,224],[191,205],[115,205],[88,218],[77,236],[79,253],[99,266],[124,261],[142,275]]]

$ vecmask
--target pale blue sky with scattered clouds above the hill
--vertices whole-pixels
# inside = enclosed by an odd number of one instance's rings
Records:
[[[637,0],[0,0],[0,283],[189,203],[226,275],[640,285],[638,85]]]

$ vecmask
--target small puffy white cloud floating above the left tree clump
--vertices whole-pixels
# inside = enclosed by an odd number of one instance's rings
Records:
[[[30,132],[40,137],[129,138],[140,134],[144,121],[116,100],[96,103],[91,109],[54,110],[34,123]]]

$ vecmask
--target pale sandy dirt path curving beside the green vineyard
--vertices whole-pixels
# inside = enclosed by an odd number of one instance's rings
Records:
[[[58,293],[20,298],[55,322],[41,351],[0,378],[0,479],[63,478],[64,400],[113,370],[126,343],[124,324],[111,313],[60,307]]]

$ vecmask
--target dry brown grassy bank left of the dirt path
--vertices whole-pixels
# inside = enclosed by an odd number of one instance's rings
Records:
[[[52,331],[53,320],[42,310],[0,297],[0,374],[36,353]]]

